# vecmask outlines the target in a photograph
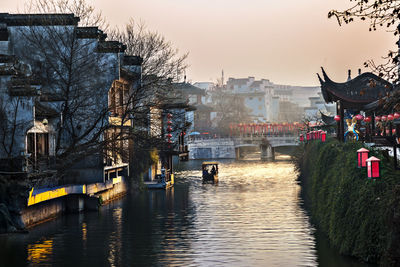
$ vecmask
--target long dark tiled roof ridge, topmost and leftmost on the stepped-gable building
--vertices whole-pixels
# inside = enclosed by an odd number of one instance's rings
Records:
[[[77,26],[74,14],[8,14],[0,13],[0,23],[7,26]]]

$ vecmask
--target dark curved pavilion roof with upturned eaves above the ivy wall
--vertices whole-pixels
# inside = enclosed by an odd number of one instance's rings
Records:
[[[344,83],[332,81],[322,68],[321,92],[325,102],[341,101],[344,108],[362,109],[365,105],[384,97],[393,90],[393,85],[381,77],[366,72]]]

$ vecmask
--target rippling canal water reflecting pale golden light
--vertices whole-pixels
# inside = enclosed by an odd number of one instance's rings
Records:
[[[363,266],[315,233],[288,157],[222,161],[216,185],[200,166],[180,163],[166,191],[0,236],[0,266]]]

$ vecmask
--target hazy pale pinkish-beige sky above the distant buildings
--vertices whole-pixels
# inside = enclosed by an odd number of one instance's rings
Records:
[[[0,12],[24,10],[24,0],[1,0]],[[144,21],[189,52],[188,80],[255,76],[274,83],[318,85],[320,66],[336,81],[368,59],[395,49],[392,33],[368,23],[339,27],[327,18],[349,0],[91,0],[111,25]],[[363,71],[366,71],[362,68]]]

